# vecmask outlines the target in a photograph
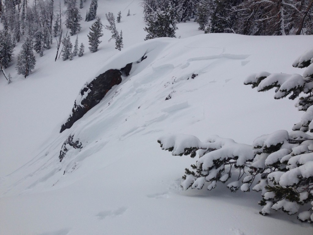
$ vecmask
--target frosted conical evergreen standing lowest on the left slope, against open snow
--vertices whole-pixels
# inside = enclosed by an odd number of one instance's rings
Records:
[[[16,70],[18,74],[26,76],[35,68],[36,58],[33,54],[33,40],[31,36],[26,36],[21,51],[18,53]]]

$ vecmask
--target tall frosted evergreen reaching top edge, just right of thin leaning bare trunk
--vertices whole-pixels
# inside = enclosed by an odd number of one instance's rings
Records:
[[[76,0],[69,0],[66,10],[66,27],[70,29],[70,34],[74,35],[77,31],[80,31],[80,16],[79,9],[76,6]]]

